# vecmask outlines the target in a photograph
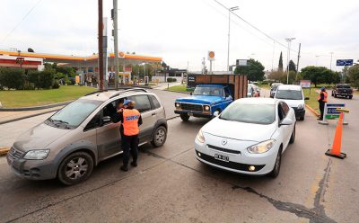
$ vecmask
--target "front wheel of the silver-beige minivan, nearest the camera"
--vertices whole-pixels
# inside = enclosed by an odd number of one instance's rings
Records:
[[[86,152],[75,152],[61,162],[57,170],[57,179],[66,185],[74,185],[89,178],[92,170],[92,156]]]

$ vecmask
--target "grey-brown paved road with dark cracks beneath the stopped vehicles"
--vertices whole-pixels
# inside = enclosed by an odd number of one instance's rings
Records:
[[[183,94],[155,91],[166,106]],[[276,179],[223,172],[203,165],[194,155],[194,138],[206,119],[168,121],[169,135],[160,148],[141,147],[139,166],[123,173],[121,156],[102,162],[85,183],[66,187],[56,180],[19,179],[0,157],[1,222],[357,222],[359,219],[358,100],[343,129],[339,160],[324,153],[334,137],[334,120],[317,123],[307,111],[297,122],[296,140],[285,152]],[[0,125],[31,128],[48,116]],[[9,123],[10,124],[10,123]],[[13,130],[12,134],[17,134]],[[10,139],[9,139],[10,140]],[[356,146],[356,147],[355,147]]]

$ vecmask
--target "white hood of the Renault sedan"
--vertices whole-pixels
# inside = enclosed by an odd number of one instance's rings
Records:
[[[215,118],[202,131],[223,138],[261,142],[270,139],[276,130],[276,121],[269,125],[245,123]]]

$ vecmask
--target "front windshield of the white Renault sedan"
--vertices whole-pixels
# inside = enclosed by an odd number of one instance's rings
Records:
[[[276,120],[276,107],[273,104],[232,103],[219,118],[255,124],[271,124]]]

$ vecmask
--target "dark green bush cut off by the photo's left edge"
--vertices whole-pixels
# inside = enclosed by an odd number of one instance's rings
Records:
[[[1,88],[22,89],[25,85],[25,71],[19,68],[0,69],[0,85]]]

